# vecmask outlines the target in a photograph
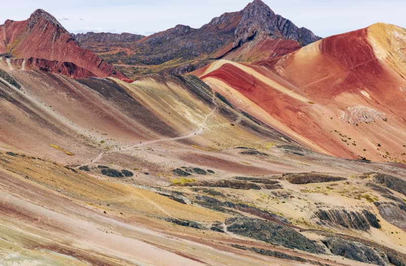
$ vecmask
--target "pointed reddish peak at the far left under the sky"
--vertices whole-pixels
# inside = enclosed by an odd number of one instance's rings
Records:
[[[35,11],[27,20],[7,20],[0,26],[0,53],[8,53],[14,59],[35,58],[57,61],[65,66],[76,65],[77,67],[70,68],[69,71],[51,67],[51,71],[71,72],[71,77],[76,78],[85,73],[84,77],[91,73],[95,77],[126,78],[92,51],[81,48],[73,35],[44,10]],[[76,72],[79,68],[86,71]]]

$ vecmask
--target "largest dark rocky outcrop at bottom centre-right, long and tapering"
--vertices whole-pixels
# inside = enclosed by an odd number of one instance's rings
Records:
[[[225,223],[228,232],[240,236],[311,253],[324,253],[321,246],[288,226],[253,218],[228,218]]]

